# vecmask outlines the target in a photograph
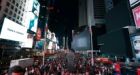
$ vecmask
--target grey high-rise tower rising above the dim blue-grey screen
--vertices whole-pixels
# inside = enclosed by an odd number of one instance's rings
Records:
[[[104,0],[79,0],[79,27],[89,22],[92,26],[105,24],[104,15]]]

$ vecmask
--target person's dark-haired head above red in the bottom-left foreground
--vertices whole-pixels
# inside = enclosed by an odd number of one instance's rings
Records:
[[[24,73],[25,69],[18,65],[11,67],[8,71],[8,75],[24,75]]]

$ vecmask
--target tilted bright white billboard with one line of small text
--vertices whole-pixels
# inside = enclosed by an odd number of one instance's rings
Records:
[[[26,38],[27,29],[7,18],[4,19],[0,38],[23,42]]]

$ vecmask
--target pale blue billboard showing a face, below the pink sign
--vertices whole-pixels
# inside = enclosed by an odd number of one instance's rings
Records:
[[[136,58],[140,59],[140,36],[131,37],[131,42]]]

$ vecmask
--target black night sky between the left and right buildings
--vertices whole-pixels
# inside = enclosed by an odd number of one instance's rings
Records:
[[[56,33],[59,40],[63,36],[71,39],[71,30],[78,27],[78,0],[39,0],[41,6],[53,7],[52,10],[40,8],[39,27],[44,28],[46,16],[49,14],[48,28]]]

